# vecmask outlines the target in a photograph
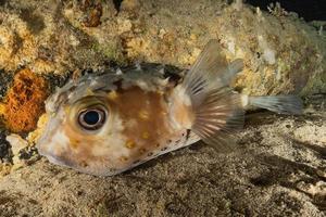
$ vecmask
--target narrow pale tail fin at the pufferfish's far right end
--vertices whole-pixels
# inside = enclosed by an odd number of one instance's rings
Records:
[[[278,114],[302,114],[302,100],[297,95],[249,97],[249,104],[269,110]]]

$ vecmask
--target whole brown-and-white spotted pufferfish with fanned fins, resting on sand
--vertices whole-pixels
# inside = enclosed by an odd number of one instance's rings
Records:
[[[154,67],[71,80],[46,102],[49,122],[38,151],[51,163],[113,176],[199,140],[233,150],[248,106],[301,113],[294,95],[249,97],[231,90],[242,67],[240,59],[228,63],[211,40],[177,81]]]

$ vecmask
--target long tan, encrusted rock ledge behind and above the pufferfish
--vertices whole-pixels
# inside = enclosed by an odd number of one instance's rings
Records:
[[[246,93],[302,95],[326,90],[326,41],[319,29],[278,4],[271,13],[242,1],[7,1],[0,11],[0,65],[66,74],[145,61],[189,67],[209,39],[246,67]],[[37,7],[35,7],[37,5]],[[29,14],[29,15],[26,15]]]

